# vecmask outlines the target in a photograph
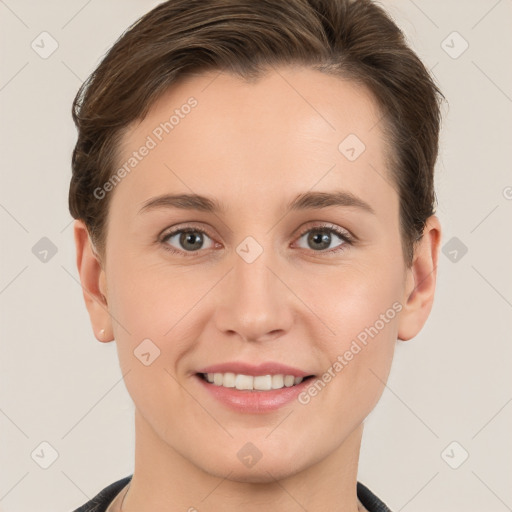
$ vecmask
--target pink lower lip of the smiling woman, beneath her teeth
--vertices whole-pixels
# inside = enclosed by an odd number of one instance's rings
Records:
[[[248,391],[216,386],[197,374],[194,378],[222,404],[235,411],[252,414],[275,411],[289,404],[297,398],[311,380],[311,378],[307,378],[300,384],[290,386],[289,388],[284,387],[270,391]]]

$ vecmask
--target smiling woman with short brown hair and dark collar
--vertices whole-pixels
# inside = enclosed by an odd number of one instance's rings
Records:
[[[135,467],[78,511],[389,510],[359,450],[433,303],[441,97],[370,0],[171,0],[122,35],[69,204]]]

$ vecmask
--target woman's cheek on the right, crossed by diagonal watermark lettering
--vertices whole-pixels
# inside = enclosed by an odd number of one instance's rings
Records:
[[[343,395],[342,402],[354,407],[373,407],[382,393],[404,306],[401,248],[389,244],[380,254],[340,267],[304,289],[321,320],[322,335],[316,338],[325,380],[337,383],[329,385],[337,395],[333,400]]]

